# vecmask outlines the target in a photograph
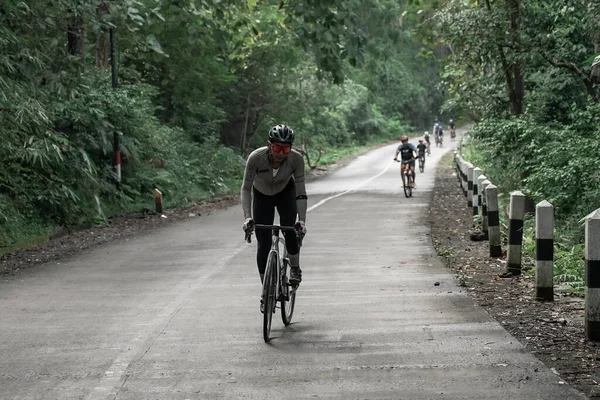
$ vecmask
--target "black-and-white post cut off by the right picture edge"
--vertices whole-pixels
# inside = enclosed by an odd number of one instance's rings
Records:
[[[600,208],[585,217],[585,334],[600,341]]]

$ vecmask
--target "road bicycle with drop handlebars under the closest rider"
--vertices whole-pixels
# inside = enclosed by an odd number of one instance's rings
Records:
[[[246,241],[248,243],[252,241],[251,235],[254,229],[270,229],[272,233],[271,250],[267,258],[262,286],[263,339],[265,342],[269,342],[271,320],[273,314],[277,311],[277,302],[281,304],[281,320],[287,326],[292,322],[296,303],[296,290],[299,286],[298,284],[292,285],[288,280],[291,266],[285,247],[285,237],[280,235],[280,232],[295,231],[299,247],[302,247],[303,235],[293,226],[254,224],[251,230],[246,231]],[[282,245],[283,250],[279,250],[280,245]]]

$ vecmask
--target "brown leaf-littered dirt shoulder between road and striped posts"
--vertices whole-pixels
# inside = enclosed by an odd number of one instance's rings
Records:
[[[467,208],[452,157],[448,153],[438,164],[428,217],[438,256],[477,306],[563,381],[600,398],[600,344],[585,337],[584,299],[555,288],[554,302],[536,300],[531,270],[520,277],[500,277],[506,271],[505,258],[489,257],[488,241],[471,240],[472,209]]]

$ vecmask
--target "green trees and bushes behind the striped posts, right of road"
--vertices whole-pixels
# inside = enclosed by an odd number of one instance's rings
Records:
[[[556,274],[581,288],[580,220],[600,207],[600,3],[440,4],[434,24],[451,49],[445,106],[478,122],[468,158],[505,196],[522,190],[554,205]],[[532,221],[526,227],[531,253]]]

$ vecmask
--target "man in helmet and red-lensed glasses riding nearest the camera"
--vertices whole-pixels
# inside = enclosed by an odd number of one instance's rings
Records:
[[[241,192],[242,209],[246,219],[242,229],[245,232],[251,231],[255,223],[272,225],[277,208],[281,225],[295,225],[297,231],[302,235],[306,234],[304,157],[292,149],[293,143],[294,131],[286,125],[276,125],[269,131],[267,145],[254,150],[248,156]],[[254,195],[252,207],[251,194]],[[295,232],[284,231],[283,235],[290,259],[290,283],[300,283],[300,248]],[[271,250],[271,239],[269,229],[256,231],[256,263],[261,282]]]

